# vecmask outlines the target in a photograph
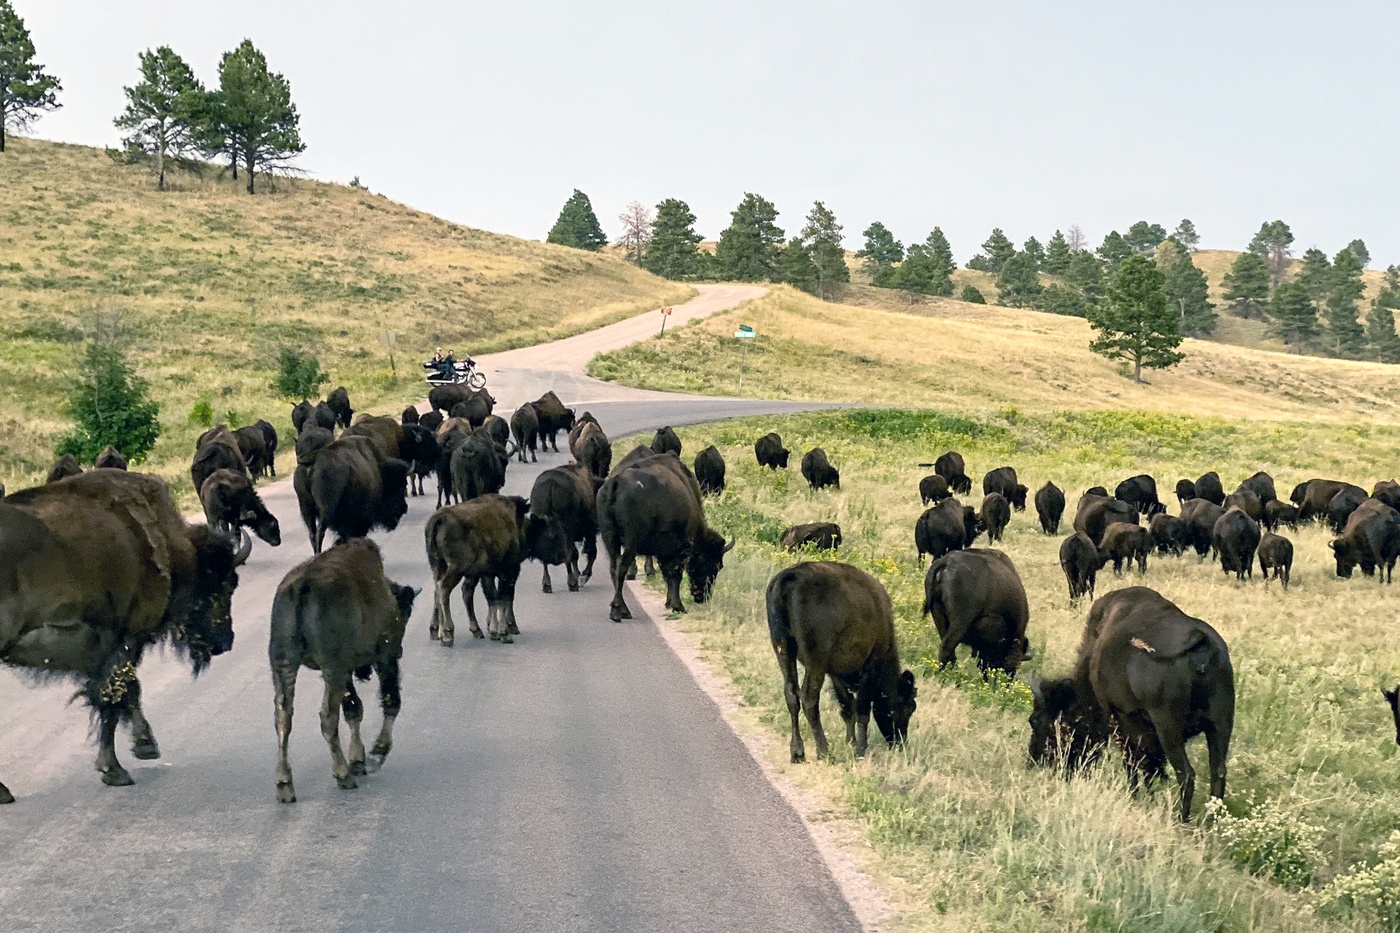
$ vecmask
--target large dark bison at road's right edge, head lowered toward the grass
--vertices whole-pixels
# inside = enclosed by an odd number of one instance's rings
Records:
[[[598,490],[598,528],[613,583],[608,618],[613,622],[631,618],[622,586],[638,556],[657,559],[666,580],[666,608],[685,612],[682,570],[690,577],[690,597],[704,602],[724,567],[724,555],[735,544],[732,539],[725,544],[706,524],[700,483],[680,458],[661,454],[633,459],[634,454]]]

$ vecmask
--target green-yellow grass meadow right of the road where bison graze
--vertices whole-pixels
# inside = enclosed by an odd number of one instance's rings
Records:
[[[841,492],[808,492],[795,469],[770,472],[753,440],[783,434],[795,458],[826,448]],[[1280,431],[1303,437],[1281,451]],[[728,492],[710,521],[739,537],[711,604],[679,625],[732,679],[771,737],[770,763],[827,794],[865,828],[876,877],[900,891],[903,929],[1012,930],[1316,930],[1378,929],[1368,904],[1324,897],[1358,863],[1378,859],[1400,829],[1400,755],[1379,686],[1400,679],[1400,590],[1337,580],[1327,535],[1294,535],[1298,562],[1285,594],[1261,581],[1236,584],[1196,558],[1154,559],[1141,583],[1161,590],[1225,636],[1236,667],[1239,710],[1231,755],[1229,820],[1200,815],[1180,827],[1173,785],[1133,799],[1110,759],[1063,780],[1028,769],[1026,688],[984,685],[972,664],[934,670],[937,636],[920,618],[923,570],[913,549],[921,511],[917,482],[944,450],[969,474],[1011,464],[1022,482],[1067,490],[1110,486],[1130,472],[1159,481],[1214,466],[1226,485],[1256,468],[1281,489],[1331,472],[1337,451],[1354,479],[1382,475],[1400,454],[1400,430],[1371,429],[1364,447],[1347,427],[1166,417],[1134,412],[846,410],[748,419],[679,431],[686,451],[715,444],[728,462]],[[1166,492],[1166,490],[1163,490]],[[920,677],[920,707],[906,752],[882,745],[853,762],[788,765],[787,710],[767,643],[763,587],[792,558],[777,534],[799,521],[837,521],[839,555],[872,573],[895,602],[900,647]],[[1060,538],[1039,531],[1033,509],[1016,513],[1002,548],[1025,580],[1035,658],[1028,671],[1071,665],[1086,607],[1070,607],[1058,567]],[[1100,576],[1100,594],[1138,583]],[[829,728],[839,713],[823,699]],[[837,726],[830,726],[837,723]],[[1204,772],[1204,744],[1191,744]],[[1198,801],[1204,792],[1198,785]],[[1263,855],[1261,855],[1263,852]],[[1256,874],[1252,874],[1253,870]],[[1393,869],[1392,869],[1393,871]],[[1389,876],[1382,876],[1389,877]],[[1303,880],[1299,884],[1299,880]],[[1282,883],[1281,883],[1282,881]],[[1345,884],[1345,881],[1344,881]]]

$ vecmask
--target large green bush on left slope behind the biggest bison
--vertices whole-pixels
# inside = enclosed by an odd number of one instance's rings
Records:
[[[59,441],[57,454],[73,454],[91,464],[108,444],[139,464],[161,436],[160,405],[150,399],[119,346],[92,342],[69,395],[71,434]]]

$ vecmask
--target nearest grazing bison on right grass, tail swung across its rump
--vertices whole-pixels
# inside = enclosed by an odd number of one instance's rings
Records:
[[[1172,765],[1186,821],[1196,792],[1186,740],[1204,733],[1211,796],[1225,796],[1235,728],[1229,649],[1215,629],[1154,590],[1128,587],[1100,597],[1084,626],[1074,674],[1032,695],[1032,761],[1053,759],[1065,744],[1102,747],[1116,731],[1134,782],[1151,782]]]

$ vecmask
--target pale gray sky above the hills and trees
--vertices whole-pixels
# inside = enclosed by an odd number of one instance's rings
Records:
[[[1191,217],[1240,248],[1354,237],[1400,262],[1400,4],[1294,0],[14,0],[64,109],[35,134],[109,144],[136,56],[211,84],[245,36],[291,81],[315,177],[543,238],[574,188],[605,228],[690,203],[707,238],[745,191],[791,234],[813,199],[847,245],[935,224],[960,262],[1078,223]]]

